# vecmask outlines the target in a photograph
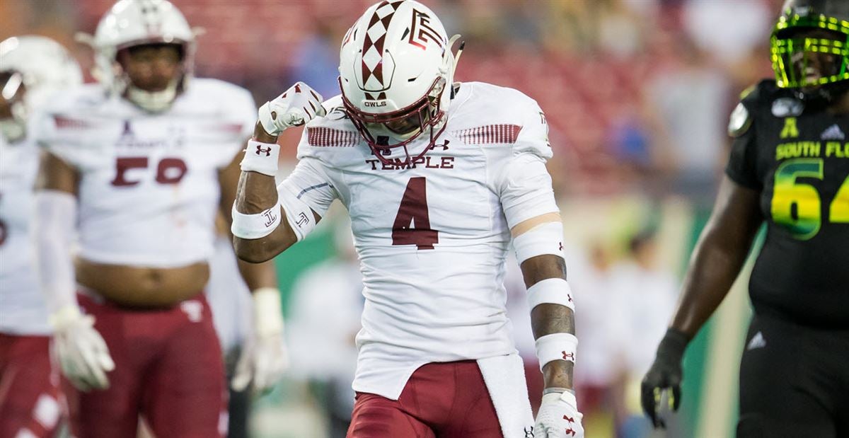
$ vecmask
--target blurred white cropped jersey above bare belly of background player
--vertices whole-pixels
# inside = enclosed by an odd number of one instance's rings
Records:
[[[38,142],[81,176],[82,258],[179,267],[211,256],[218,171],[256,121],[247,90],[193,79],[171,109],[148,113],[87,85],[60,96],[39,119]]]

